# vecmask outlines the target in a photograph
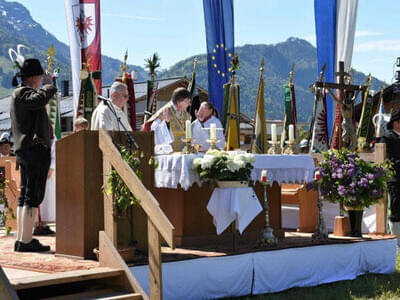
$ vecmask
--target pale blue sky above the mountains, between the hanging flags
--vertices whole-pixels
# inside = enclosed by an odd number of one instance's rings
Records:
[[[68,44],[63,0],[18,0],[33,19]],[[102,53],[144,64],[158,52],[161,68],[206,53],[203,1],[102,0]],[[393,82],[400,56],[399,0],[360,0],[352,67]],[[315,46],[314,0],[234,0],[235,46],[276,44],[289,37]],[[400,69],[400,68],[399,68]]]

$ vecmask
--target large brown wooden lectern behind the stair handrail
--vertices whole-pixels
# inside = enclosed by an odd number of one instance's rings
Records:
[[[123,132],[111,132],[115,144],[127,145]],[[154,153],[153,133],[133,132],[142,160],[143,182],[152,189],[154,170],[147,163]],[[99,231],[104,229],[103,162],[97,131],[80,131],[56,145],[56,255],[89,258],[98,247]],[[141,208],[134,208],[134,238],[146,247],[147,219]],[[146,224],[146,225],[144,225]],[[128,226],[128,228],[126,228]],[[118,224],[121,238],[129,238],[129,222]],[[120,234],[118,234],[120,241]]]

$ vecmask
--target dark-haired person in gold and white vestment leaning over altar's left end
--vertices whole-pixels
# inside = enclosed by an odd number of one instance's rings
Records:
[[[172,144],[174,152],[182,151],[185,137],[185,122],[191,120],[187,108],[190,106],[191,94],[185,88],[177,88],[171,100],[158,110],[149,120],[154,131],[155,145]]]

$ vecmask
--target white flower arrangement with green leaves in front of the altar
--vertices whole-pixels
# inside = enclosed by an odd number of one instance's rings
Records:
[[[242,151],[209,150],[193,160],[200,179],[219,187],[248,186],[255,157]]]

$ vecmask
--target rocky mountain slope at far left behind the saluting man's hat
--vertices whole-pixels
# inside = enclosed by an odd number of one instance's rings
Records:
[[[60,68],[60,80],[70,80],[71,67],[69,46],[57,40],[55,36],[46,31],[40,24],[35,22],[29,11],[20,3],[0,0],[0,97],[10,94],[11,80],[16,70],[12,66],[8,56],[8,49],[16,49],[18,44],[28,46],[23,49],[26,58],[39,58],[45,66],[47,50],[54,45],[55,57],[54,67]],[[102,56],[103,84],[111,84],[114,77],[119,73],[120,60]],[[129,70],[138,71],[138,80],[145,80],[148,75],[140,66],[129,66]]]

